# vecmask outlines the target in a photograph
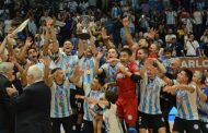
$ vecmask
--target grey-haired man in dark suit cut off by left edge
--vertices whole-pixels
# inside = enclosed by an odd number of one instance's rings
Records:
[[[13,66],[10,62],[0,62],[0,133],[14,132],[14,113],[9,107],[10,97],[5,90],[12,87]]]

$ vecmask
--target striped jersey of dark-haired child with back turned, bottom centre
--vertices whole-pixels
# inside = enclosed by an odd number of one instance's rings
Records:
[[[106,133],[124,133],[122,124],[117,114],[117,106],[111,104],[109,109],[105,108],[103,111],[103,120],[106,125]]]

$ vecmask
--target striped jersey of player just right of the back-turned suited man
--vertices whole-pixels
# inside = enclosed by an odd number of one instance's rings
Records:
[[[57,85],[55,82],[51,86],[51,105],[50,117],[51,118],[65,118],[72,114],[70,104],[70,83],[68,78],[62,85]]]

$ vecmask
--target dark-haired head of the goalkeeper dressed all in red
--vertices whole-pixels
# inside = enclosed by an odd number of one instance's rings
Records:
[[[130,58],[132,56],[132,51],[129,48],[123,48],[120,50],[120,62],[126,64],[129,62]]]

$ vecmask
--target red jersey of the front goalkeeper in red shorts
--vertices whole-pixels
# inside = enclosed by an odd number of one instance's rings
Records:
[[[130,62],[126,66],[126,70],[135,73],[139,72],[137,63]],[[136,85],[130,77],[127,75],[123,74],[120,71],[118,71],[116,75],[116,82],[117,82],[117,87],[118,87],[118,98],[134,98],[136,97]]]

